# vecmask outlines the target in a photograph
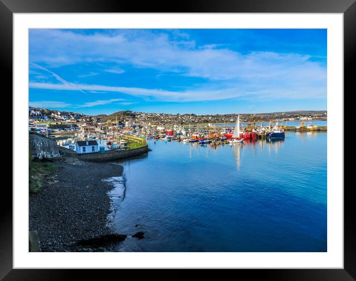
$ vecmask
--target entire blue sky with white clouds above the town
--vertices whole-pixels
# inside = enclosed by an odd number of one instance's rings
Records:
[[[326,29],[31,29],[31,106],[226,114],[327,109]]]

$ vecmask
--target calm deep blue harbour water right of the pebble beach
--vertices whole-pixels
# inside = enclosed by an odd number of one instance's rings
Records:
[[[148,141],[124,166],[119,251],[327,251],[327,133],[217,147]],[[120,185],[122,189],[123,185]]]

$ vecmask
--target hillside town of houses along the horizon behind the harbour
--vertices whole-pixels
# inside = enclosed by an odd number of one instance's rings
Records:
[[[29,107],[29,127],[38,127],[44,123],[53,129],[76,130],[80,126],[103,126],[106,122],[131,127],[151,125],[187,125],[187,124],[228,124],[236,121],[237,113],[196,115],[143,113],[132,111],[118,111],[111,115],[90,116],[69,111],[59,111]],[[327,120],[327,111],[292,111],[260,114],[240,114],[241,122],[259,121],[309,121]]]

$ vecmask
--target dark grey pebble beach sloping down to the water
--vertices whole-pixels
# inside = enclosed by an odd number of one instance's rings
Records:
[[[41,250],[112,251],[110,241],[124,240],[107,221],[113,187],[102,179],[121,176],[123,167],[73,157],[56,161],[54,173],[29,198],[29,230],[37,230]]]

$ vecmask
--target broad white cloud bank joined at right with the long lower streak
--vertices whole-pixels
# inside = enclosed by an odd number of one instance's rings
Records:
[[[327,70],[310,56],[273,52],[241,54],[221,45],[196,46],[188,34],[149,30],[118,30],[111,35],[79,34],[63,30],[30,31],[31,61],[52,67],[78,63],[109,63],[104,70],[122,73],[122,64],[163,73],[201,77],[201,88],[186,91],[105,85],[35,83],[32,88],[122,92],[165,101],[247,98],[326,98]]]

